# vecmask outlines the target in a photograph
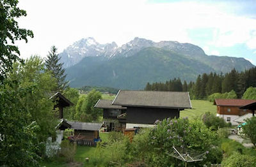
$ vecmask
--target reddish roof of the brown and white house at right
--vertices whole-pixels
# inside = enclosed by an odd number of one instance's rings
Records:
[[[217,106],[245,106],[255,102],[255,99],[215,99],[213,104]]]

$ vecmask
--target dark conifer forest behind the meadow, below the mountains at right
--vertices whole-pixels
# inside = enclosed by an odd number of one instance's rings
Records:
[[[180,81],[175,78],[166,82],[147,83],[147,91],[189,91],[193,99],[206,99],[214,93],[234,91],[237,98],[241,98],[248,87],[256,87],[256,68],[243,72],[232,69],[225,75],[216,73],[204,73],[198,75],[196,82]]]

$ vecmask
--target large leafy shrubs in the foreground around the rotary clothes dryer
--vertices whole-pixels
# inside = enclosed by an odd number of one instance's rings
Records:
[[[113,135],[109,135],[112,136]],[[118,136],[115,134],[115,136]],[[221,163],[222,152],[218,136],[200,120],[165,119],[156,127],[142,129],[132,143],[125,137],[114,137],[97,146],[95,166],[182,166],[184,162],[170,156],[173,146],[179,149],[205,152],[205,159],[195,162],[200,166]]]

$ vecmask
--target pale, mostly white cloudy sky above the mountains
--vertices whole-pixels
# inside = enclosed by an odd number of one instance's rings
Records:
[[[45,57],[82,38],[123,45],[135,37],[179,41],[203,48],[207,55],[244,57],[256,65],[256,0],[20,0],[27,11],[20,28],[34,38],[17,41],[20,56]]]

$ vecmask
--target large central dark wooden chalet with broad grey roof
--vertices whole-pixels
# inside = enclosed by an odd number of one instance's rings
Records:
[[[112,105],[127,108],[118,118],[126,128],[150,127],[156,120],[179,118],[180,111],[191,108],[188,92],[118,91]]]

